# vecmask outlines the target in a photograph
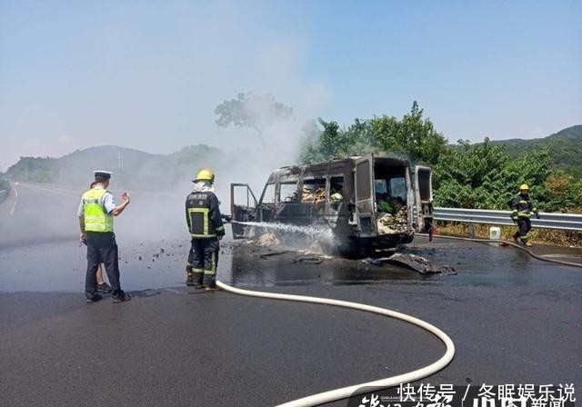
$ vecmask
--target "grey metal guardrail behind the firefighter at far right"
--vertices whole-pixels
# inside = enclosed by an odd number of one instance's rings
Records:
[[[532,215],[532,226],[539,229],[559,229],[582,232],[582,214],[539,213],[540,219]],[[437,221],[462,223],[514,224],[510,211],[491,211],[487,209],[435,208]]]

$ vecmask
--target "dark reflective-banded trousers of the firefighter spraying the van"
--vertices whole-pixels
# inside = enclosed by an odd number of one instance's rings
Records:
[[[214,287],[220,243],[216,237],[192,239],[186,271],[194,273],[194,283]]]

